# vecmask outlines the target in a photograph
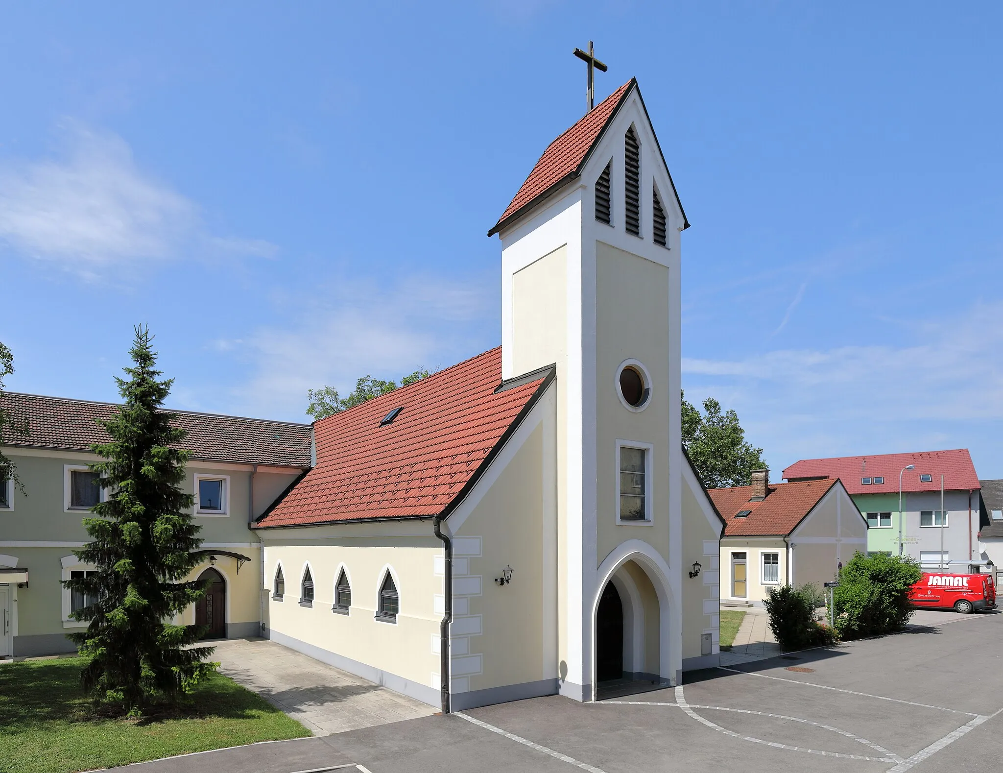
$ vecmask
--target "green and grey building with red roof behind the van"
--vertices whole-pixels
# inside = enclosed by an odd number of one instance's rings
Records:
[[[943,560],[953,569],[967,571],[973,562],[981,562],[980,483],[967,448],[801,459],[783,470],[783,477],[790,482],[843,480],[871,526],[870,552],[911,555],[927,569],[938,568]]]

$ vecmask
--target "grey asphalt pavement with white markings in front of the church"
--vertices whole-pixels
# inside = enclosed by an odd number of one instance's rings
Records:
[[[132,766],[137,773],[1003,768],[1003,614],[686,675],[682,689],[559,697]],[[791,669],[797,669],[792,671]],[[662,704],[662,705],[659,705]],[[360,767],[356,767],[360,766]]]

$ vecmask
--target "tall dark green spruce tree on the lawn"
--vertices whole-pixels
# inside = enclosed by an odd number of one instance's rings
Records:
[[[191,507],[179,487],[189,452],[178,447],[185,431],[176,414],[159,411],[173,380],[158,381],[156,353],[146,327],[135,328],[134,363],[116,378],[123,405],[101,425],[110,441],[92,446],[103,461],[91,464],[106,491],[83,525],[93,541],[74,554],[96,571],[65,582],[94,603],[77,613],[87,631],[70,634],[90,659],[84,689],[100,703],[141,714],[157,700],[177,703],[213,672],[212,648],[193,648],[202,629],[173,618],[205,596],[205,584],[185,582],[202,544]]]

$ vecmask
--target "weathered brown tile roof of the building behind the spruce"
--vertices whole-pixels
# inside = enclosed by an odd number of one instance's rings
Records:
[[[97,422],[117,413],[115,403],[43,397],[17,392],[0,394],[0,406],[17,419],[28,422],[27,437],[6,433],[4,445],[89,451],[94,443],[106,443],[108,433]],[[283,467],[310,466],[310,425],[291,421],[249,419],[217,413],[170,411],[188,431],[181,443],[196,459],[272,464]]]

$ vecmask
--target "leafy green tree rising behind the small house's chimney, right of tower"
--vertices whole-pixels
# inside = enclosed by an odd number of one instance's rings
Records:
[[[762,448],[745,440],[745,430],[734,410],[721,413],[721,404],[713,397],[703,401],[703,413],[682,400],[683,445],[693,466],[707,488],[745,486],[751,472],[762,469]]]

